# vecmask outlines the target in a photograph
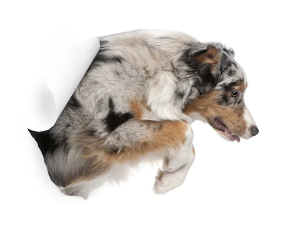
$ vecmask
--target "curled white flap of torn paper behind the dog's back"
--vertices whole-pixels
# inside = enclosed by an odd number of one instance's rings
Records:
[[[60,27],[48,31],[45,41],[44,73],[33,81],[28,108],[27,127],[35,131],[55,124],[99,50],[96,37],[77,41]]]

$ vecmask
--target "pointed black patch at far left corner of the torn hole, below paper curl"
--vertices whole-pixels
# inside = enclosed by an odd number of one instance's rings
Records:
[[[34,131],[28,129],[34,139],[37,141],[38,146],[45,158],[47,153],[53,153],[54,150],[58,147],[58,143],[50,134],[49,130],[45,131]]]

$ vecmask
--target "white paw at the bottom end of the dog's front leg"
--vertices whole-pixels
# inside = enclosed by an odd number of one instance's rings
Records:
[[[181,171],[167,172],[159,171],[154,184],[154,191],[159,194],[166,193],[171,189],[179,187],[185,179]]]

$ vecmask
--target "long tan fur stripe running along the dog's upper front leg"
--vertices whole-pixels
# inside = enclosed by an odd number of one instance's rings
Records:
[[[141,124],[146,124],[148,129],[140,140],[132,146],[124,146],[117,153],[108,153],[101,149],[104,140],[98,139],[94,135],[78,134],[72,137],[73,142],[86,147],[82,156],[84,158],[94,158],[94,169],[101,165],[109,165],[112,162],[124,162],[138,159],[147,152],[166,148],[168,146],[179,148],[186,140],[188,123],[186,121],[149,121],[140,120]]]

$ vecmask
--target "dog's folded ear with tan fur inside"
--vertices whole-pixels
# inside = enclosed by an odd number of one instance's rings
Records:
[[[221,49],[208,44],[204,48],[196,49],[190,53],[190,56],[197,62],[201,63],[209,63],[211,64],[212,68],[218,64],[220,59]]]

